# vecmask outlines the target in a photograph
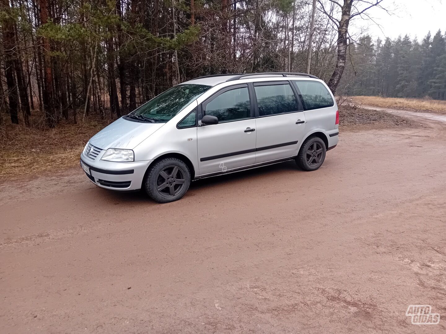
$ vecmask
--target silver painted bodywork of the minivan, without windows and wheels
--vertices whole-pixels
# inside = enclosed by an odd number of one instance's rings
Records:
[[[283,81],[284,77],[252,77],[235,81],[226,81],[226,79],[227,77],[213,77],[187,81],[187,83],[215,84],[215,86],[183,108],[167,123],[139,123],[120,118],[93,136],[89,142],[103,149],[103,151],[93,161],[85,154],[81,155],[81,159],[89,165],[101,169],[134,169],[134,173],[129,175],[91,172],[95,181],[101,178],[109,181],[131,180],[132,183],[127,188],[106,187],[96,182],[95,184],[99,187],[115,190],[140,189],[149,165],[165,154],[174,153],[185,156],[194,169],[194,171],[191,171],[193,173],[192,178],[196,179],[220,171],[231,171],[235,168],[255,166],[257,163],[295,156],[305,138],[315,132],[322,132],[326,135],[328,147],[333,147],[338,143],[338,135],[330,137],[330,134],[338,132],[339,127],[335,125],[335,112],[338,110],[336,102],[334,106],[328,108],[178,129],[178,122],[194,110],[198,104],[201,104],[224,87],[245,82]],[[322,80],[306,77],[287,77],[286,80],[315,80],[326,86]],[[331,92],[330,95],[335,101]],[[299,119],[305,120],[305,123],[296,124]],[[244,129],[248,127],[254,127],[256,131],[245,133]],[[233,155],[222,159],[200,161],[200,158],[249,150],[253,144],[256,148],[294,141],[297,141],[297,144],[243,155]],[[116,163],[100,160],[105,150],[111,147],[133,149],[136,161]]]

